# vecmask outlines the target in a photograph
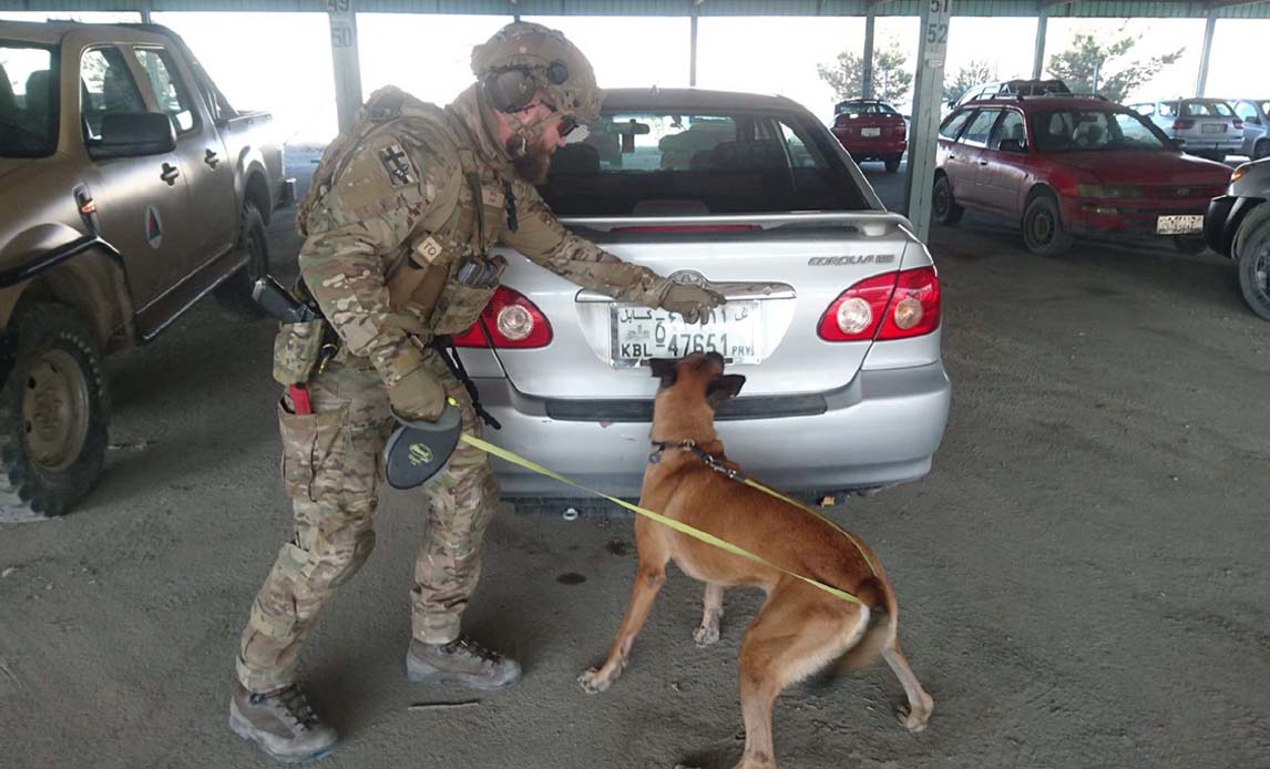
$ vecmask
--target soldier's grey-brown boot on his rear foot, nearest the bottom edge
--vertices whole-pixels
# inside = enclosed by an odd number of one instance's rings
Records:
[[[286,764],[320,759],[339,740],[295,684],[268,694],[253,694],[239,685],[230,699],[230,728]]]

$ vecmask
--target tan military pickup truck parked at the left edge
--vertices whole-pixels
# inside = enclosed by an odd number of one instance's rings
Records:
[[[208,292],[254,315],[287,189],[269,123],[164,28],[0,23],[0,522],[97,480],[103,354]]]

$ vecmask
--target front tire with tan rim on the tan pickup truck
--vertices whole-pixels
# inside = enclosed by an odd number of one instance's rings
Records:
[[[109,398],[102,353],[70,307],[14,317],[0,386],[0,523],[65,514],[102,475]]]

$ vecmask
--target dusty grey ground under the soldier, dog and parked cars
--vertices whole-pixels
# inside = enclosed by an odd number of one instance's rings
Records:
[[[1232,265],[1090,244],[1038,259],[987,222],[933,242],[955,387],[935,472],[836,514],[886,565],[935,716],[903,731],[884,667],[799,687],[777,706],[782,765],[1270,765],[1270,326]],[[116,360],[100,486],[64,520],[0,527],[4,766],[268,765],[225,716],[287,532],[271,334],[208,307]],[[345,735],[321,766],[735,760],[756,595],[729,595],[723,642],[698,650],[700,589],[672,576],[626,676],[588,697],[574,676],[620,619],[630,523],[507,513],[467,627],[527,675],[497,695],[425,690],[401,671],[420,519],[389,495],[377,527],[306,656]]]

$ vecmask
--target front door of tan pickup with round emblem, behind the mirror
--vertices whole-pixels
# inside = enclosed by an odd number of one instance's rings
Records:
[[[71,63],[79,72],[79,118],[89,147],[102,138],[105,115],[147,112],[119,48],[93,47]],[[180,159],[175,152],[90,159],[84,180],[102,237],[123,255],[140,312],[185,274],[184,260],[194,246],[197,227],[190,223]]]

